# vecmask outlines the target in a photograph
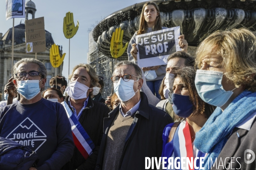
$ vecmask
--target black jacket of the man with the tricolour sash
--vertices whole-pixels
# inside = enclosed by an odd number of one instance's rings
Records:
[[[67,104],[68,98],[69,96],[65,99]],[[72,108],[70,109],[72,110]],[[64,170],[94,170],[103,135],[103,119],[108,117],[109,112],[110,109],[106,105],[91,99],[89,96],[87,106],[82,111],[79,122],[95,144],[95,149],[87,160],[85,160],[77,147],[75,147],[73,157],[70,162],[64,165]]]

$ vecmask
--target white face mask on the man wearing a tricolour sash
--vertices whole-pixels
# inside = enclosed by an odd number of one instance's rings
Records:
[[[75,100],[84,99],[84,98],[87,98],[88,89],[92,89],[92,88],[89,88],[80,82],[74,81],[74,82],[70,82],[70,84],[66,88],[66,93],[72,99],[75,99]]]

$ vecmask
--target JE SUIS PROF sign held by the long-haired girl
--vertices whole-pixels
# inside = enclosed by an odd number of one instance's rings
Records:
[[[178,44],[179,36],[179,26],[137,35],[138,65],[140,67],[166,65],[170,54],[181,51]]]

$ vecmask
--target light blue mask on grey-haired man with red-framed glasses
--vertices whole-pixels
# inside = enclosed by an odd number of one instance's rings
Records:
[[[137,81],[130,79],[128,82],[125,82],[122,78],[120,78],[118,82],[114,83],[114,91],[122,102],[126,102],[135,96],[135,93],[137,93],[139,89],[134,92],[133,85],[134,82]]]

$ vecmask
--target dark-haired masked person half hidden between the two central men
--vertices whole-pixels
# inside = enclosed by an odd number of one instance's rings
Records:
[[[93,94],[91,95],[91,98],[93,100],[96,100],[98,102],[101,102],[105,104],[106,99],[102,98],[102,89],[104,88],[104,82],[103,82],[103,77],[98,76],[99,82],[97,82],[97,85],[93,87]]]

